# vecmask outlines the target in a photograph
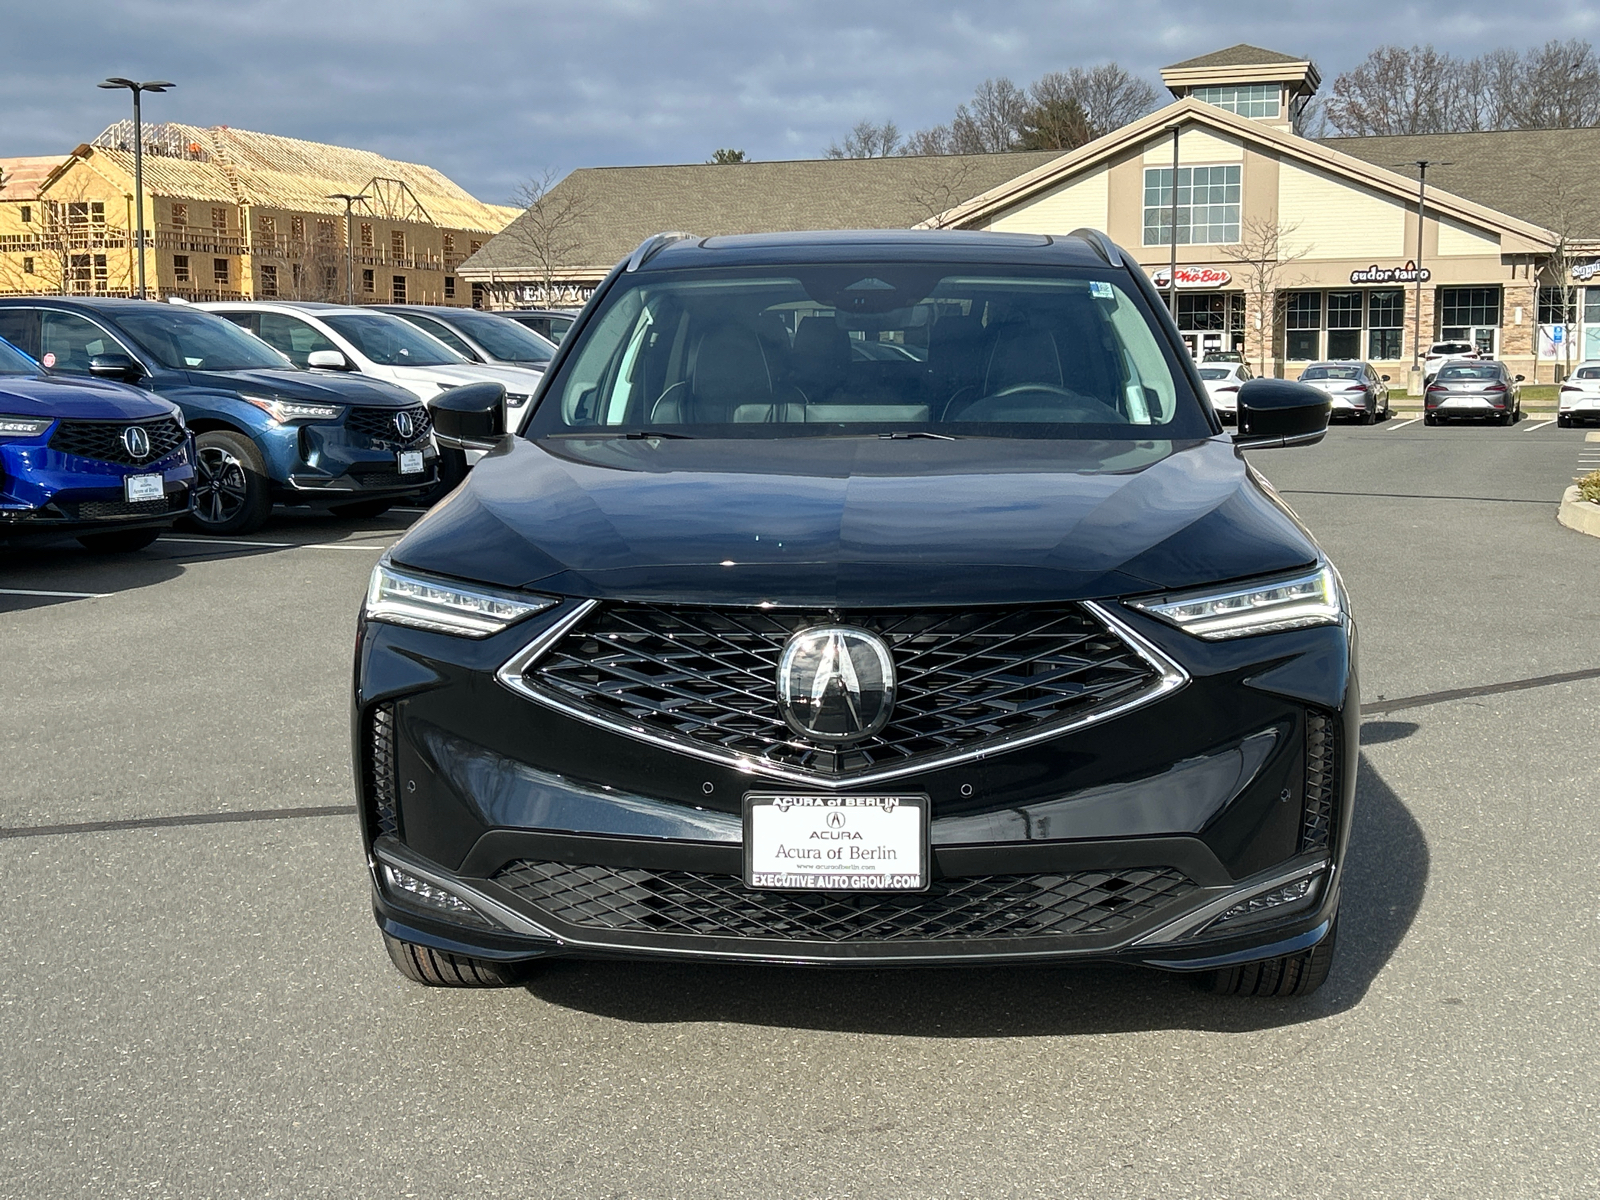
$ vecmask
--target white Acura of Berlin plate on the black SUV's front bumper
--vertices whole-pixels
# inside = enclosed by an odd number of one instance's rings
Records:
[[[922,891],[925,795],[746,795],[744,880],[784,891]]]

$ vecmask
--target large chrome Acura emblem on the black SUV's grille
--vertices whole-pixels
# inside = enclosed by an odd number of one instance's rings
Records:
[[[778,710],[819,742],[854,742],[894,710],[894,659],[875,634],[850,626],[802,629],[778,661]]]

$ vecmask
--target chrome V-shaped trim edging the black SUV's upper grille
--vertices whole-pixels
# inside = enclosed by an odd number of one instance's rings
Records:
[[[824,774],[818,771],[806,771],[802,768],[784,766],[782,763],[773,763],[765,758],[757,758],[749,754],[739,754],[733,750],[718,749],[706,742],[694,742],[683,738],[670,738],[661,734],[638,722],[618,720],[608,714],[595,712],[582,704],[574,704],[562,696],[534,688],[525,678],[525,672],[534,666],[539,658],[547,653],[562,637],[566,635],[574,626],[578,626],[589,613],[598,606],[598,600],[584,600],[576,605],[571,613],[563,616],[549,629],[542,630],[533,638],[526,646],[509,658],[498,672],[494,678],[510,691],[531,699],[536,704],[542,704],[547,709],[554,709],[566,717],[586,722],[589,725],[610,730],[611,733],[619,733],[626,738],[634,738],[635,741],[656,746],[674,754],[683,754],[691,758],[701,758],[704,762],[718,763],[720,766],[730,766],[736,771],[744,771],[750,776],[760,776],[762,779],[778,779],[789,784],[805,784],[808,787],[826,787],[826,789],[859,789],[869,784],[877,784],[886,779],[898,779],[906,774],[918,774],[922,771],[939,770],[946,766],[954,766],[957,763],[971,762],[974,758],[987,758],[995,754],[1003,754],[1006,750],[1014,750],[1022,746],[1032,746],[1034,742],[1046,741],[1050,738],[1061,738],[1067,733],[1075,733],[1077,730],[1088,728],[1091,725],[1099,725],[1102,722],[1122,717],[1123,714],[1133,712],[1134,709],[1142,709],[1146,704],[1154,704],[1162,696],[1166,696],[1178,688],[1189,683],[1189,672],[1186,672],[1178,662],[1163,654],[1154,643],[1147,642],[1138,632],[1134,632],[1122,618],[1110,611],[1107,605],[1098,603],[1094,600],[1080,602],[1083,608],[1093,613],[1106,627],[1118,638],[1122,638],[1141,659],[1144,659],[1155,672],[1157,677],[1146,690],[1128,696],[1115,704],[1096,709],[1093,712],[1082,714],[1072,720],[1066,720],[1054,725],[1046,725],[1043,728],[1022,730],[1018,733],[994,738],[990,741],[962,747],[958,750],[949,750],[946,754],[931,754],[914,760],[906,760],[899,763],[885,765],[880,768],[872,768],[866,771],[846,773],[846,774]]]

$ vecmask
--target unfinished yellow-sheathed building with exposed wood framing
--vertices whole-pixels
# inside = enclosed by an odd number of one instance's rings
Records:
[[[330,198],[362,195],[350,208]],[[470,304],[456,267],[517,210],[430,166],[227,126],[144,126],[152,298]],[[59,158],[0,158],[0,296],[136,290],[133,126]]]

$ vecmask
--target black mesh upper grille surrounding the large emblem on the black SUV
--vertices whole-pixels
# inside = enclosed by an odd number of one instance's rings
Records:
[[[696,747],[838,778],[978,750],[1138,696],[1160,672],[1080,605],[846,613],[894,658],[894,712],[850,746],[803,741],[778,710],[778,659],[818,613],[597,608],[525,672],[536,694]]]

